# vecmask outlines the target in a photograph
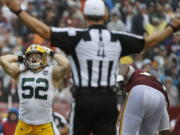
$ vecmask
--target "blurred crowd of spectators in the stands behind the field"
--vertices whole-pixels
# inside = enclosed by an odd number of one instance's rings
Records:
[[[83,28],[86,25],[82,14],[84,0],[22,2],[23,10],[50,26]],[[110,30],[138,35],[158,32],[164,29],[175,15],[180,15],[179,0],[105,0],[105,3],[109,11],[109,21],[106,24]],[[49,41],[30,31],[8,8],[1,5],[0,55],[22,55],[32,43],[50,45]],[[54,49],[61,52],[57,48]],[[173,34],[150,51],[122,58],[120,63],[132,64],[157,76],[167,88],[170,105],[180,106],[180,32]],[[65,88],[72,85],[71,79],[66,78],[64,83]],[[18,102],[14,80],[0,69],[0,102],[7,102],[8,95],[13,97],[13,102]]]

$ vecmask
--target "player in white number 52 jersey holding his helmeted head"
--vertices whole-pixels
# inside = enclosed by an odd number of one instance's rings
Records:
[[[55,63],[48,64],[48,56]],[[25,56],[1,56],[0,64],[18,85],[20,109],[15,135],[56,135],[52,101],[59,81],[69,70],[68,60],[47,47],[33,44]]]

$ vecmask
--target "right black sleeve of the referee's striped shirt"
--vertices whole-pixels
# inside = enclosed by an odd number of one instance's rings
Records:
[[[140,53],[145,46],[145,39],[142,36],[121,32],[118,39],[122,46],[121,56]]]

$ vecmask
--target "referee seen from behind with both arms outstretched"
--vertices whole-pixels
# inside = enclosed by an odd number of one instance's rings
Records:
[[[176,17],[166,29],[147,37],[109,31],[104,25],[102,0],[86,1],[86,29],[52,28],[22,11],[20,0],[3,1],[27,27],[68,55],[75,85],[70,135],[116,135],[113,86],[119,58],[153,47],[180,29],[180,18]]]

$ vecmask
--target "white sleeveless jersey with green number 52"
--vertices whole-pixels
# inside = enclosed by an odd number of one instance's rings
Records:
[[[29,125],[52,121],[52,102],[56,91],[52,83],[52,69],[51,65],[38,73],[27,70],[19,74],[19,119]]]

